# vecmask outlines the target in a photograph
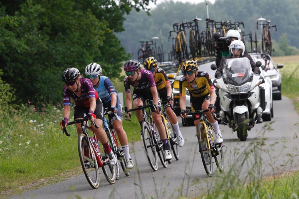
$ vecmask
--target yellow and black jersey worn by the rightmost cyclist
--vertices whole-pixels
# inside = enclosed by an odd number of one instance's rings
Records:
[[[190,100],[192,97],[204,97],[209,93],[210,89],[214,89],[214,85],[207,72],[198,71],[196,75],[196,85],[191,85],[184,76],[179,80],[179,96],[186,96],[186,88],[190,93]]]

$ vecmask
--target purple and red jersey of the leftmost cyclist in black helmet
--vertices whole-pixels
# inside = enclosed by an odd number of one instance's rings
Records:
[[[71,98],[74,99],[75,105],[82,107],[90,107],[89,98],[95,97],[98,99],[98,93],[93,88],[90,79],[80,78],[81,83],[81,96],[78,96],[75,92],[70,91],[67,86],[63,87],[63,105],[71,106]]]

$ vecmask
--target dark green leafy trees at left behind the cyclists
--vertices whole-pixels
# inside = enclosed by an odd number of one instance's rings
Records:
[[[61,100],[61,73],[97,62],[119,76],[129,54],[115,35],[124,14],[155,0],[2,0],[0,68],[18,101]]]

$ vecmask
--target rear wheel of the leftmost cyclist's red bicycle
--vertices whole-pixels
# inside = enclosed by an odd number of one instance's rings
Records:
[[[110,142],[109,138],[108,138],[108,142],[109,142],[109,145],[111,147],[111,142]],[[112,150],[112,147],[111,147],[111,150]],[[104,151],[104,153],[102,153],[102,155],[101,155],[103,163],[104,162],[109,162],[108,155],[107,155],[104,147],[103,147],[103,151]],[[104,165],[102,167],[102,170],[103,170],[103,173],[106,177],[106,180],[109,182],[110,185],[113,185],[116,181],[117,166],[118,166],[118,163],[116,165],[113,165],[113,166],[110,165],[110,164],[107,164],[107,165]]]

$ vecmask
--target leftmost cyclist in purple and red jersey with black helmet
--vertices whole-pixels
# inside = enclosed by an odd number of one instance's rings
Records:
[[[68,118],[71,113],[71,98],[75,101],[74,120],[84,118],[84,115],[89,115],[89,118],[96,123],[99,129],[91,126],[91,131],[96,134],[99,141],[103,144],[106,153],[109,156],[111,165],[117,163],[117,158],[111,151],[108,143],[107,134],[102,128],[103,123],[103,104],[95,92],[92,83],[89,79],[83,78],[77,68],[67,68],[62,73],[62,79],[65,82],[63,87],[63,120],[60,123],[61,129],[66,128]],[[82,132],[81,125],[75,124],[78,135]]]

